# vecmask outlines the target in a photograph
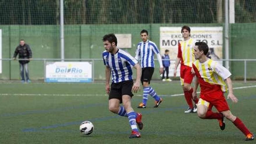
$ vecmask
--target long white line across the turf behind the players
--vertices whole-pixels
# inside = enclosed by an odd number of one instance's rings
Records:
[[[233,89],[243,89],[243,88],[253,88],[255,86],[242,86],[242,87],[237,87]],[[200,92],[197,92],[200,93]],[[162,97],[175,97],[175,96],[182,96],[182,94],[174,94],[174,95],[159,95]],[[0,93],[0,96],[108,96],[106,94],[21,94],[21,93]],[[142,96],[142,95],[135,95],[135,96]]]

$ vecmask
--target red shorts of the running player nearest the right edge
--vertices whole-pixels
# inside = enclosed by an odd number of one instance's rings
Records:
[[[221,90],[208,94],[200,94],[198,104],[207,106],[209,110],[214,106],[219,112],[229,110],[227,101]]]

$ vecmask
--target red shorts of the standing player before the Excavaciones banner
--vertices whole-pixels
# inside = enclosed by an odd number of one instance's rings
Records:
[[[195,74],[191,73],[192,67],[186,66],[186,65],[181,65],[180,66],[180,82],[181,85],[184,85],[184,83],[189,83],[191,84],[193,77]]]

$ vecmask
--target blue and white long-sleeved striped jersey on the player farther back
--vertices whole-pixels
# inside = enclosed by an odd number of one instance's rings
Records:
[[[154,54],[159,54],[157,45],[147,40],[147,42],[140,42],[137,45],[135,58],[138,60],[140,56],[141,67],[154,67]]]

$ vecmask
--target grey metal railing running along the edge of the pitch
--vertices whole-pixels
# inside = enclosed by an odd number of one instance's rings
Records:
[[[11,61],[12,58],[2,58],[0,61]],[[16,59],[17,61],[27,61],[29,59]],[[61,58],[33,58],[31,61],[44,61],[44,64],[46,61],[92,61],[93,63],[93,79],[94,79],[94,61],[102,61],[102,58],[69,58],[69,59],[61,59]],[[163,61],[166,61],[169,59],[163,59]],[[157,61],[157,59],[155,59]],[[170,59],[170,61],[176,61],[176,59]],[[256,61],[256,59],[218,59],[215,61],[243,61],[244,62],[244,82],[246,83],[246,77],[247,77],[247,62],[248,61]]]

